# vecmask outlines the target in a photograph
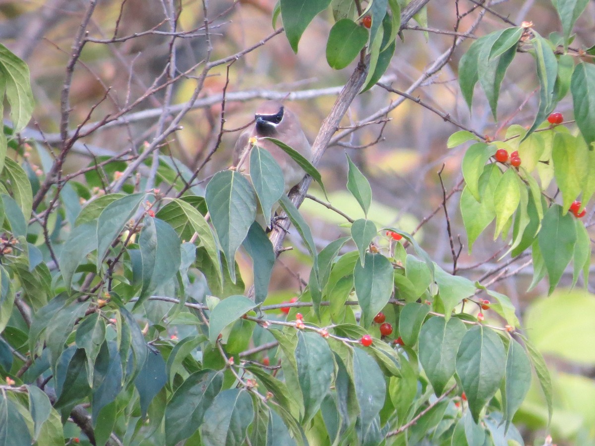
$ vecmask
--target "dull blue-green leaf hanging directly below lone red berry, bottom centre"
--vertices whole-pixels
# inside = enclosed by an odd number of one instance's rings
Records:
[[[362,348],[353,348],[353,385],[359,404],[359,422],[369,426],[384,406],[386,384],[382,370]]]

